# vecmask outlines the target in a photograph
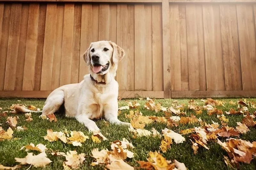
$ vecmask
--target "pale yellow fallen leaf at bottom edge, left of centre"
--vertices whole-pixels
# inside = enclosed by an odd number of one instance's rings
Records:
[[[77,169],[79,168],[80,164],[84,162],[84,155],[84,153],[80,153],[79,155],[77,155],[76,151],[69,151],[66,155],[64,155],[67,160],[64,163],[70,168]]]

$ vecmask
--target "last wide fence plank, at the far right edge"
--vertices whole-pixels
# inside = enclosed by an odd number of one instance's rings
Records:
[[[236,9],[243,90],[256,90],[256,46],[253,6],[250,4],[237,4]]]

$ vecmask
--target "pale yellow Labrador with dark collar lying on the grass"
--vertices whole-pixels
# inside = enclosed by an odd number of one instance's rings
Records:
[[[65,114],[75,117],[89,131],[100,131],[93,119],[104,117],[111,123],[128,125],[117,118],[118,83],[115,80],[117,63],[124,58],[124,50],[111,41],[92,42],[82,56],[89,66],[84,80],[53,90],[45,101],[42,115],[55,113],[64,105]],[[17,111],[31,112],[25,108]]]

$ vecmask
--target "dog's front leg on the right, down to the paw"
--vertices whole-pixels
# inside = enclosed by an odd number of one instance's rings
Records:
[[[110,104],[105,105],[104,113],[105,113],[105,115],[104,115],[105,119],[107,119],[110,123],[127,125],[130,128],[132,128],[130,123],[122,122],[122,121],[118,120],[118,118],[117,118],[118,103],[117,102],[115,104],[112,103],[112,105],[110,105]]]

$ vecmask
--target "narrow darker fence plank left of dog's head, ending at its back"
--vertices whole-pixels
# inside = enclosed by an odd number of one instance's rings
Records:
[[[79,60],[80,60],[80,34],[81,34],[81,13],[82,6],[75,5],[74,11],[74,32],[73,32],[73,53],[71,64],[71,83],[78,83],[79,80]]]

